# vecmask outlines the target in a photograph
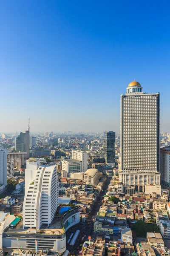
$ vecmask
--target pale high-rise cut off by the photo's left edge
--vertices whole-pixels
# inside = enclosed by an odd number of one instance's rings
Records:
[[[0,149],[0,185],[7,185],[7,153]]]

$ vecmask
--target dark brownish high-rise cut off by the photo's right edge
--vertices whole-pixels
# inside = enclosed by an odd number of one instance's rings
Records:
[[[161,186],[170,192],[170,147],[160,148]]]

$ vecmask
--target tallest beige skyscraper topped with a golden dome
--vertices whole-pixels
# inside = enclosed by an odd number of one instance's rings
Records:
[[[144,192],[145,184],[160,184],[160,93],[143,93],[137,81],[121,95],[121,165],[123,191]]]

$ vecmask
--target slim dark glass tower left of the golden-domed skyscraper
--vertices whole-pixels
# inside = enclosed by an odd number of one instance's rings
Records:
[[[115,165],[115,132],[113,131],[105,132],[104,157],[105,163]]]

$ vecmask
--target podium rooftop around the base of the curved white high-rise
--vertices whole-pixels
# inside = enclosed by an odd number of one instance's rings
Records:
[[[23,220],[20,221],[16,227],[8,227],[4,233],[28,233],[31,228],[27,227],[23,229]],[[32,229],[35,230],[35,229]],[[30,232],[29,232],[30,233]],[[34,233],[34,232],[33,232]],[[48,234],[48,235],[61,235],[64,233],[62,228],[62,219],[55,219],[51,222],[50,226],[43,224],[40,230],[37,230],[37,234]]]

